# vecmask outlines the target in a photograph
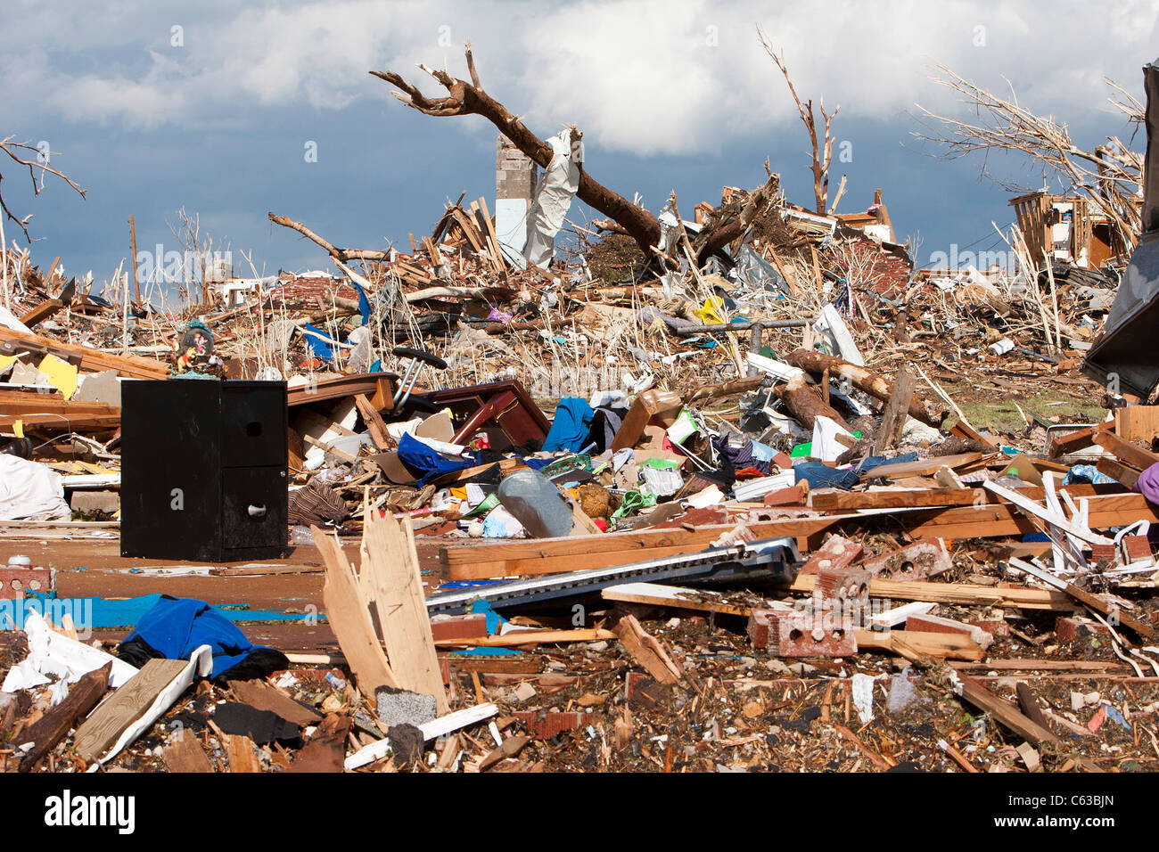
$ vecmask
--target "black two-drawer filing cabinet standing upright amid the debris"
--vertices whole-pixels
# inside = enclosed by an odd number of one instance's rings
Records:
[[[286,386],[167,379],[121,389],[121,555],[285,555]]]

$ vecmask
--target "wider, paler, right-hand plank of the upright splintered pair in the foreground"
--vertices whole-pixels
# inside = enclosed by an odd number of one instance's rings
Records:
[[[396,685],[435,696],[438,713],[446,713],[446,693],[410,524],[401,525],[391,516],[377,518],[371,512],[363,524],[362,566],[363,589],[373,597]]]

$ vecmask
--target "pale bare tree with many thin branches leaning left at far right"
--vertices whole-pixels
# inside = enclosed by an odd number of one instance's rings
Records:
[[[936,66],[936,71],[941,77],[932,77],[931,80],[956,92],[958,102],[965,104],[976,119],[970,122],[942,116],[916,104],[923,118],[928,121],[921,122],[925,131],[914,131],[913,136],[942,146],[945,151],[940,156],[948,160],[975,153],[985,158],[994,151],[1016,152],[1030,158],[1062,179],[1069,191],[1091,198],[1115,228],[1120,245],[1127,250],[1135,247],[1142,228],[1138,197],[1143,154],[1131,151],[1114,136],[1108,136],[1106,145],[1092,151],[1078,147],[1065,124],[1054,116],[1041,116],[1021,105],[1009,80],[1006,80],[1009,95],[1003,97],[943,65]],[[1124,99],[1107,100],[1132,122],[1142,122],[1143,105],[1117,83],[1111,80],[1106,82]],[[982,174],[1009,191],[1034,191],[1032,187],[991,174],[986,160],[983,160]]]

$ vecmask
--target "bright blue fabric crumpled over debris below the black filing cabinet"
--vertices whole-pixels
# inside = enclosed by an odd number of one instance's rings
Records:
[[[195,649],[207,645],[213,654],[211,677],[228,671],[257,647],[204,600],[168,595],[141,616],[125,642],[132,639],[141,639],[167,660],[189,660]]]

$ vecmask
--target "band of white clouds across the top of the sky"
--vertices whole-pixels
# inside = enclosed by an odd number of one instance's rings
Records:
[[[1005,75],[1033,109],[1073,124],[1109,111],[1105,75],[1139,90],[1139,67],[1156,58],[1157,20],[1159,0],[1059,0],[1049,8],[983,0],[778,8],[347,0],[241,12],[205,0],[181,13],[146,0],[111,13],[27,3],[0,32],[0,79],[12,93],[7,111],[22,122],[48,105],[70,121],[194,129],[262,107],[341,110],[384,97],[389,89],[367,75],[371,68],[391,67],[442,94],[414,65],[446,63],[465,77],[461,44],[471,37],[484,86],[542,134],[576,122],[606,150],[695,154],[797,121],[757,42],[758,22],[783,50],[802,97],[841,105],[838,123],[890,118],[914,101],[947,107],[949,93],[926,79],[928,66],[942,63],[990,87]],[[180,48],[170,45],[175,24],[183,28]],[[460,132],[490,136],[482,122]]]

